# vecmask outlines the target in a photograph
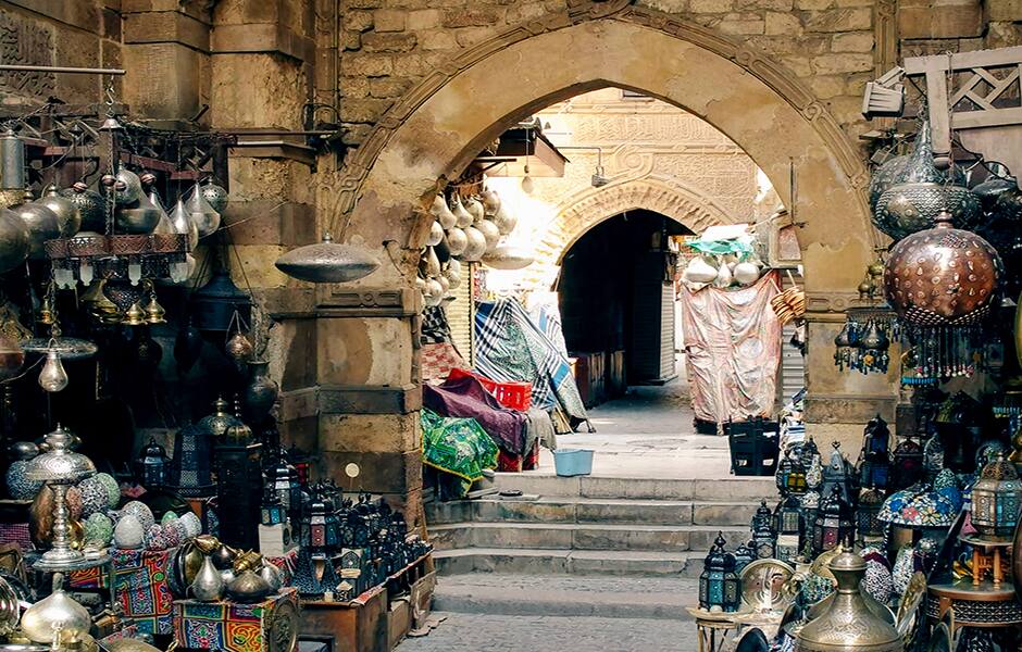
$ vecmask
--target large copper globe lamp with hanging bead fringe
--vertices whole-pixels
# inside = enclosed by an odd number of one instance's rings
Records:
[[[980,236],[952,228],[942,211],[937,225],[890,250],[884,269],[887,301],[914,351],[914,376],[948,378],[975,372],[982,356],[980,325],[990,312],[1004,266]]]

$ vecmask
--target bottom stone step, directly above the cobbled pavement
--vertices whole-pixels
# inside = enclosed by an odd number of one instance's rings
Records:
[[[689,620],[699,582],[678,577],[451,575],[437,585],[436,611],[499,616],[596,616]]]

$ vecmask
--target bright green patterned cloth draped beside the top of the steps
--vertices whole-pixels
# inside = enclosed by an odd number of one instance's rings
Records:
[[[440,416],[428,408],[421,418],[424,464],[470,482],[497,466],[497,444],[474,418]]]

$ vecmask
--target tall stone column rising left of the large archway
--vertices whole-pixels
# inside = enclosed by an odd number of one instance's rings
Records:
[[[307,453],[317,447],[316,321],[313,288],[273,265],[315,241],[315,150],[300,131],[309,101],[311,2],[222,0],[210,36],[210,122],[238,134],[229,152],[230,202],[224,212],[230,274],[251,288],[275,322],[266,358],[281,385],[281,436]],[[274,131],[265,134],[265,131]],[[235,255],[236,253],[236,255]]]

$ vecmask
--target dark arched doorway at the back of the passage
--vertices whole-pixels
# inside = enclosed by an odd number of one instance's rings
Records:
[[[674,264],[670,237],[690,234],[652,211],[615,215],[564,254],[558,285],[564,340],[578,359],[588,405],[627,385],[664,383],[674,365]],[[587,394],[587,396],[586,396]]]

